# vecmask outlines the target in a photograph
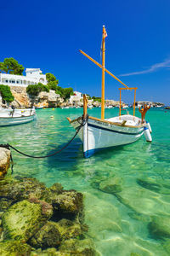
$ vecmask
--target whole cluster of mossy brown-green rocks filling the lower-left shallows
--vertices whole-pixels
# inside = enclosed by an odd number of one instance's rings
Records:
[[[0,255],[98,255],[83,224],[83,196],[36,178],[0,181]]]

